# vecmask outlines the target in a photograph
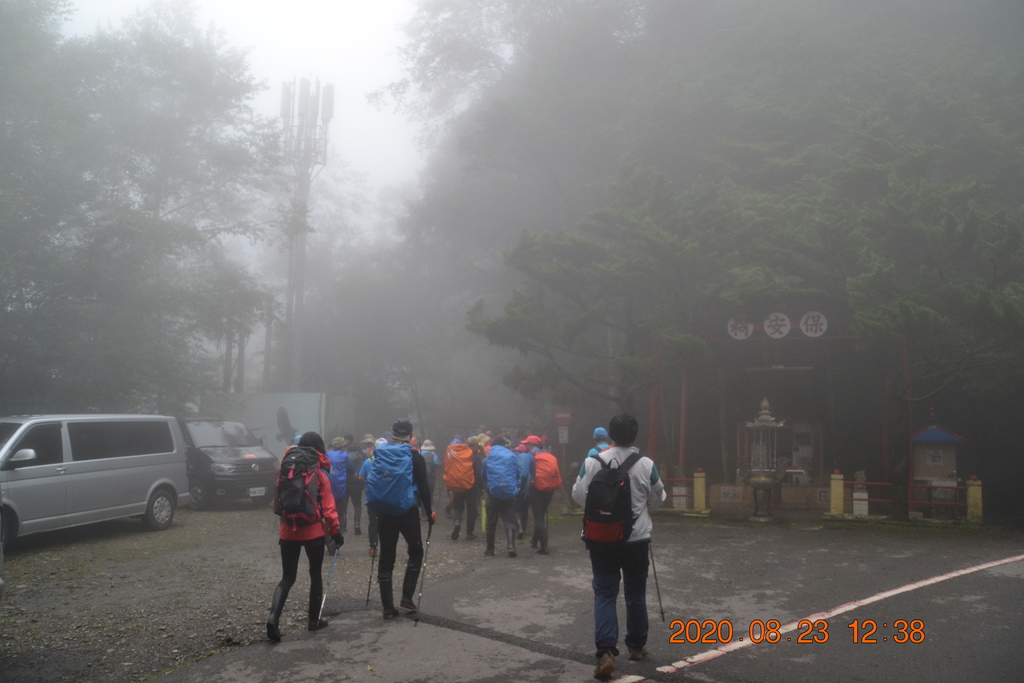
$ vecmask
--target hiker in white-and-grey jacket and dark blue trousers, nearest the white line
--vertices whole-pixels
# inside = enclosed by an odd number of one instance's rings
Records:
[[[653,526],[648,509],[659,506],[666,494],[654,462],[641,457],[639,449],[633,447],[639,430],[636,419],[631,415],[611,418],[608,436],[612,447],[587,458],[572,486],[572,499],[584,506],[584,539],[594,573],[594,644],[598,658],[594,678],[599,680],[607,680],[615,673],[615,655],[618,654],[615,602],[620,574],[626,596],[629,658],[642,659],[647,655],[647,558]],[[613,481],[608,476],[610,468],[625,470],[630,505],[621,515],[608,517],[616,520],[613,523],[594,522],[589,516],[591,509],[597,505],[595,499],[602,493],[627,488],[610,485]],[[598,477],[596,482],[595,477]],[[611,496],[614,497],[614,494]],[[613,501],[603,507],[617,509]],[[620,518],[622,521],[617,521]]]

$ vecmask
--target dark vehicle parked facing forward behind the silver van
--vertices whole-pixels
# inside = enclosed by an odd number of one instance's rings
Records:
[[[278,483],[276,457],[241,422],[180,420],[188,452],[188,493],[193,507],[251,498],[270,501]]]

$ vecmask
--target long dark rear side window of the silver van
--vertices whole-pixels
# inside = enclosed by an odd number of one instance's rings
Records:
[[[174,451],[166,422],[69,422],[68,436],[76,462]]]

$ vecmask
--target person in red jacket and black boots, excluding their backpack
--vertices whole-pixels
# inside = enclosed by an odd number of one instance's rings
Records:
[[[331,481],[327,471],[331,469],[324,446],[324,438],[316,432],[306,432],[299,439],[299,447],[312,449],[319,456],[319,467],[316,469],[317,488],[319,490],[319,512],[323,523],[295,525],[282,520],[280,540],[282,579],[273,592],[270,602],[270,614],[266,620],[266,635],[275,643],[281,642],[279,622],[285,609],[285,600],[292,590],[299,572],[299,555],[302,549],[306,551],[309,560],[309,623],[308,629],[316,631],[327,626],[327,620],[321,618],[321,601],[324,597],[324,548],[327,537],[338,547],[345,543],[341,536],[341,524],[338,521],[338,511],[331,493]],[[325,528],[326,527],[326,528]]]

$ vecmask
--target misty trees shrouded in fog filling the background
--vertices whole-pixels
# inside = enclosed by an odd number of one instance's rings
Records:
[[[74,40],[66,8],[0,9],[2,410],[188,410],[243,338],[226,383],[283,390],[265,86],[187,8]],[[344,150],[314,181],[302,390],[353,395],[364,432],[550,431],[568,404],[577,439],[629,410],[672,454],[685,377],[688,469],[725,478],[748,371],[827,368],[833,464],[934,409],[1019,509],[1019,3],[423,0],[406,35],[371,96],[427,163],[384,200]],[[717,341],[778,309],[843,341]]]

